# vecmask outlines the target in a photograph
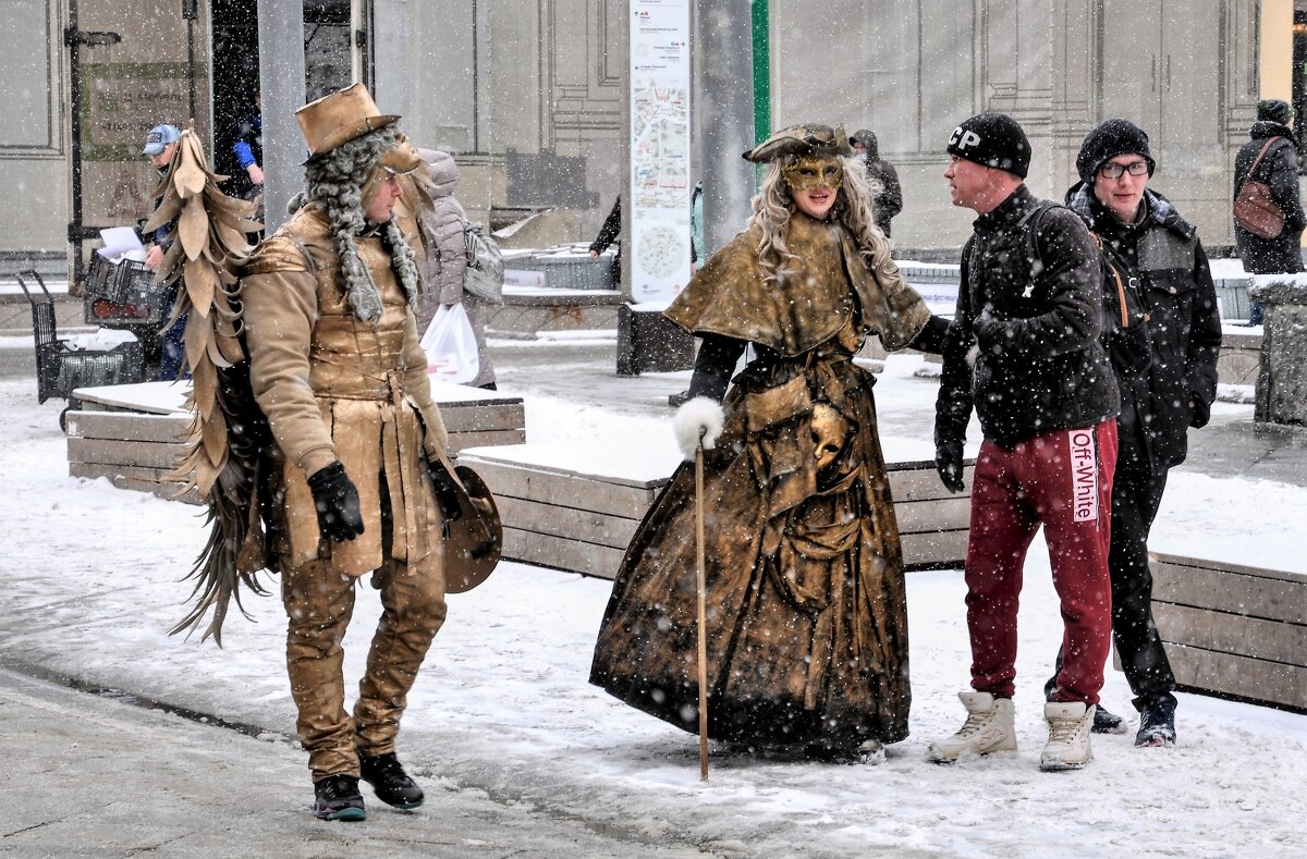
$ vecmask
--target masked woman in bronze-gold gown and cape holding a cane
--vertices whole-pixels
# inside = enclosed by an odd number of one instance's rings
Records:
[[[676,430],[704,453],[708,735],[822,760],[884,758],[907,736],[907,603],[876,430],[874,377],[852,363],[938,351],[946,330],[890,260],[844,131],[787,128],[748,230],[667,309],[701,337]],[[746,346],[757,358],[731,373]],[[724,406],[719,405],[725,397]],[[698,730],[694,469],[626,551],[591,681]]]

